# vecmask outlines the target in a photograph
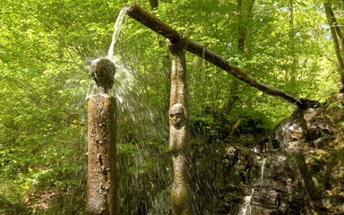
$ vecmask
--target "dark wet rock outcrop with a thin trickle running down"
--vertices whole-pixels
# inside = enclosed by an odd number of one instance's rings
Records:
[[[295,110],[260,142],[220,148],[202,214],[344,214],[342,97]]]

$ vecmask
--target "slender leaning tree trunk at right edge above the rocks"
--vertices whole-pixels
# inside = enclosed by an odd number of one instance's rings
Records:
[[[332,12],[331,9],[331,3],[330,2],[325,2],[323,4],[324,8],[325,8],[325,13],[326,13],[326,18],[327,18],[327,22],[329,22],[330,25],[330,30],[331,30],[331,36],[332,36],[332,40],[333,40],[333,45],[334,45],[334,50],[338,59],[338,70],[340,73],[340,83],[341,83],[341,87],[340,87],[340,91],[344,91],[344,58],[341,55],[341,51],[340,51],[340,35],[341,35],[341,31],[340,28],[336,28],[335,27],[335,22],[336,21],[335,17],[334,17],[334,13]],[[341,35],[342,36],[342,35]]]

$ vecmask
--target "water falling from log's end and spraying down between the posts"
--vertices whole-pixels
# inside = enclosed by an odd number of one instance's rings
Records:
[[[165,215],[170,210],[170,165],[167,153],[168,124],[159,106],[147,102],[136,64],[116,51],[116,42],[127,18],[124,7],[115,23],[107,58],[116,65],[118,214]],[[130,50],[125,50],[129,53]],[[94,91],[94,90],[90,90]]]

